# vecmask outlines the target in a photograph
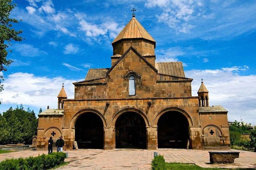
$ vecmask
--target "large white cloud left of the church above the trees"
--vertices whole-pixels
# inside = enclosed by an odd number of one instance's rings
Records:
[[[63,77],[39,77],[28,73],[14,73],[5,77],[4,90],[0,92],[2,102],[0,112],[6,111],[10,106],[16,108],[16,105],[45,110],[49,105],[50,108],[57,108],[58,94],[61,90],[62,83],[68,98],[74,96],[74,85],[72,82],[81,80],[69,80]],[[7,107],[8,106],[8,107]],[[4,107],[7,109],[4,110]]]

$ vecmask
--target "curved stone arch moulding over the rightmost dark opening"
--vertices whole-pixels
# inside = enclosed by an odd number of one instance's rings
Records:
[[[188,115],[188,113],[185,111],[185,110],[182,110],[180,108],[176,108],[176,107],[170,107],[170,108],[166,108],[162,111],[160,111],[156,117],[155,117],[155,121],[154,121],[154,126],[157,127],[157,122],[159,120],[159,118],[166,112],[169,112],[169,111],[177,111],[177,112],[180,112],[181,114],[183,114],[183,116],[185,116],[188,120],[188,124],[189,126],[193,126],[193,121],[192,121],[192,118]]]

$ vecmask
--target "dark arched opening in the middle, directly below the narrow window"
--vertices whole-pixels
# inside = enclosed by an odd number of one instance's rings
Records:
[[[147,148],[146,124],[138,113],[126,112],[116,120],[116,148]]]

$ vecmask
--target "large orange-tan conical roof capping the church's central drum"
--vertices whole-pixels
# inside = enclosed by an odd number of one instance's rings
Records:
[[[124,27],[124,29],[117,35],[116,39],[112,42],[115,43],[121,39],[134,39],[143,38],[156,43],[155,39],[149,35],[149,33],[143,28],[139,21],[132,17],[131,21]]]

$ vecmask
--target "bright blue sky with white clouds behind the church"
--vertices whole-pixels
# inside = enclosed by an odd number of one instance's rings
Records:
[[[22,103],[37,114],[57,108],[62,83],[89,68],[109,68],[111,42],[132,18],[156,40],[156,62],[182,61],[192,96],[204,79],[210,105],[228,110],[228,120],[256,124],[256,1],[247,0],[13,0],[11,17],[22,19],[22,42],[12,42],[14,62],[4,76],[0,113]]]

